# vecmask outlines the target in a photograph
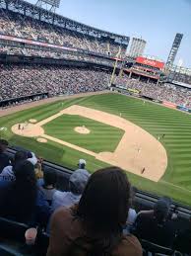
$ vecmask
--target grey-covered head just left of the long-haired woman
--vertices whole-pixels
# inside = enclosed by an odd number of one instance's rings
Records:
[[[70,191],[76,195],[83,194],[90,176],[90,173],[84,169],[79,169],[73,172],[69,180]]]

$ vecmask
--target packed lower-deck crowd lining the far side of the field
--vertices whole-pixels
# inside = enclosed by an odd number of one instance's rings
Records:
[[[96,92],[108,87],[110,74],[94,68],[56,65],[1,64],[0,101],[46,93],[49,96]],[[115,76],[114,83],[140,95],[191,108],[191,89],[170,83],[152,83]]]

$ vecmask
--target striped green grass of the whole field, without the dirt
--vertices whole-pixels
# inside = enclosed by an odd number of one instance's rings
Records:
[[[76,168],[76,164],[79,158],[85,158],[88,162],[88,168],[94,172],[97,168],[107,166],[106,163],[96,160],[94,157],[84,154],[82,152],[73,150],[66,146],[59,145],[52,141],[48,143],[38,143],[35,138],[27,138],[15,135],[11,131],[11,127],[14,124],[22,123],[30,119],[36,119],[41,121],[49,116],[52,116],[58,113],[63,108],[69,107],[71,105],[78,104],[81,106],[93,108],[96,110],[101,110],[107,113],[114,115],[122,114],[122,118],[136,124],[137,126],[146,129],[154,136],[158,137],[161,134],[165,134],[164,139],[160,140],[163,146],[166,149],[168,157],[168,165],[165,174],[159,180],[158,183],[149,181],[145,178],[141,178],[137,175],[128,173],[128,177],[131,182],[137,186],[139,189],[146,190],[149,192],[157,193],[159,195],[167,195],[172,197],[174,200],[182,202],[184,204],[191,206],[191,116],[164,108],[154,103],[144,102],[140,99],[134,99],[131,97],[126,97],[124,95],[118,94],[104,94],[104,95],[95,95],[79,99],[69,99],[65,100],[62,103],[56,102],[48,105],[39,106],[32,108],[31,110],[22,111],[7,117],[0,118],[0,127],[8,128],[7,131],[3,132],[2,135],[9,139],[11,144],[21,145],[23,147],[29,148],[35,151],[37,154],[43,156],[47,160],[68,166],[70,168]],[[63,105],[63,106],[62,106]],[[69,117],[60,117],[61,120],[64,120],[64,123],[67,121],[68,131],[70,128],[76,126],[74,125],[74,120]],[[59,119],[60,119],[59,118]],[[73,137],[72,133],[62,134],[61,129],[59,128],[59,119],[52,121],[51,123],[46,124],[45,130],[49,135],[57,136],[58,138],[63,138],[72,143],[78,143],[82,146],[82,140],[79,135]],[[84,118],[78,117],[78,124],[84,124]],[[96,129],[97,122],[91,122],[85,126],[92,126],[95,130],[96,139],[95,143],[92,146],[91,150],[99,150],[101,146],[109,148],[110,151],[113,150],[115,145],[118,143],[121,130],[112,130],[112,132],[107,134],[107,139],[98,138],[98,130]],[[94,124],[95,123],[95,124]],[[100,125],[103,127],[102,124]],[[105,125],[104,125],[105,126]],[[105,126],[104,132],[111,127]],[[58,129],[59,132],[56,133]],[[55,131],[55,132],[54,132]],[[67,132],[68,132],[67,131]],[[108,133],[108,132],[107,132]],[[94,134],[94,135],[95,135]],[[111,139],[112,134],[114,135],[113,141]],[[91,135],[91,133],[90,133]],[[93,134],[92,134],[93,135]],[[84,138],[84,137],[83,137]],[[75,141],[74,141],[75,140]],[[81,142],[79,142],[81,140]],[[90,149],[90,144],[92,144],[93,137],[90,138],[90,141],[86,146]],[[108,141],[107,141],[108,140]],[[100,145],[102,143],[102,145]],[[98,145],[97,145],[98,144]],[[103,145],[104,144],[104,145]],[[103,147],[102,147],[103,148]],[[101,149],[102,151],[102,149]],[[149,157],[149,156],[148,156]],[[155,171],[155,170],[154,170]]]

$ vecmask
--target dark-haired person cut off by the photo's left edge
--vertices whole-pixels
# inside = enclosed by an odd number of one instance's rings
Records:
[[[9,143],[5,139],[0,139],[0,173],[3,169],[11,164],[11,158],[6,153]]]

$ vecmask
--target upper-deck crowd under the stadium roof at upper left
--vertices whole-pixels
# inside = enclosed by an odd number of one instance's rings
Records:
[[[5,10],[0,15],[0,34],[36,42],[80,48],[107,55],[116,55],[118,52],[125,55],[127,47],[126,44],[116,43],[112,39],[89,36]]]

